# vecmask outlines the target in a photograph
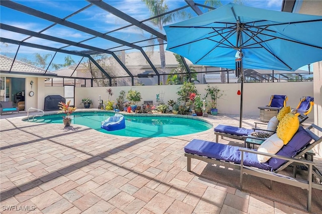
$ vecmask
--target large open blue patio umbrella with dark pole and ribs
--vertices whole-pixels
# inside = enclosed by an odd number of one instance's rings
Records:
[[[295,71],[322,60],[322,16],[293,14],[229,3],[198,17],[164,27],[167,50],[194,64],[235,69]]]

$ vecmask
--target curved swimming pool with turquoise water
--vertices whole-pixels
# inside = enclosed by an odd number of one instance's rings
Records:
[[[129,137],[171,137],[178,135],[188,135],[206,131],[212,128],[212,124],[203,120],[184,117],[164,117],[164,115],[124,115],[126,128],[117,131],[108,132],[101,129],[101,122],[114,113],[107,112],[76,112],[72,115],[71,126],[73,124],[84,125],[99,132],[112,135]],[[62,124],[61,114],[45,115],[36,117],[33,122],[36,123],[55,123]],[[186,116],[187,117],[187,116]]]

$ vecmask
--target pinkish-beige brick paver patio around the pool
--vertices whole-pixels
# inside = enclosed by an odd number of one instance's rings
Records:
[[[27,123],[25,116],[0,120],[1,213],[17,213],[13,209],[18,208],[28,209],[19,213],[305,213],[199,176],[207,167],[204,162],[194,160],[188,173],[184,146],[193,138],[215,141],[212,129],[133,138],[74,124]],[[259,121],[244,117],[243,127]],[[214,126],[239,123],[235,115],[207,120]],[[321,169],[322,159],[315,156],[314,161]]]

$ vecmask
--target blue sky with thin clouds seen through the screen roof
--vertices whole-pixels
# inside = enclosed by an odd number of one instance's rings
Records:
[[[86,1],[43,1],[43,0],[35,0],[35,1],[14,1],[19,4],[22,4],[24,6],[28,6],[31,8],[34,8],[36,10],[42,11],[44,13],[56,16],[58,18],[64,18],[68,16],[69,14],[89,5]],[[106,3],[112,5],[113,7],[117,8],[118,10],[132,16],[133,18],[142,21],[145,19],[148,19],[150,17],[149,11],[140,0],[116,0],[116,1],[105,1]],[[203,4],[204,1],[195,1],[196,3]],[[233,1],[221,1],[223,5],[233,2]],[[169,7],[169,10],[174,10],[176,8],[182,7],[186,5],[184,0],[168,0],[167,5]],[[269,10],[275,10],[280,11],[282,0],[245,0],[244,5],[250,6],[250,7],[256,7],[256,8],[263,8],[263,9],[269,9]],[[20,12],[16,12],[14,10],[8,9],[6,7],[1,6],[1,23],[13,25],[15,27],[28,29],[31,31],[38,32],[48,26],[50,26],[51,22],[39,19],[30,15],[25,15]],[[186,9],[187,12],[190,12],[193,14],[193,11],[191,9]],[[194,14],[194,16],[196,16]],[[112,30],[115,30],[120,27],[124,27],[129,25],[126,21],[107,13],[106,11],[103,11],[102,9],[92,6],[89,9],[67,19],[69,22],[73,22],[75,24],[83,25],[87,28],[91,28],[95,31],[106,33]],[[144,24],[155,28],[151,23],[145,22]],[[171,24],[167,23],[166,25]],[[155,28],[156,30],[159,30]],[[15,40],[23,40],[26,39],[28,36],[21,35],[18,33],[12,33],[9,31],[1,30],[1,37],[9,38],[9,39],[15,39]],[[163,31],[165,34],[165,32]],[[79,42],[85,39],[92,38],[93,35],[86,34],[81,31],[73,30],[61,25],[56,25],[46,31],[43,32],[43,34],[55,36],[58,38]],[[148,32],[145,32],[143,30],[140,30],[137,27],[128,27],[123,29],[119,32],[113,32],[109,34],[110,36],[119,38],[121,40],[127,41],[127,42],[137,42],[140,40],[148,39],[151,37],[151,34]],[[54,48],[61,48],[65,45],[62,45],[60,43],[51,42],[42,40],[39,38],[31,38],[26,40],[26,42],[40,44],[40,45],[47,45]],[[119,46],[119,44],[110,42],[101,38],[92,39],[89,41],[84,42],[84,44],[91,45],[91,46],[99,46],[103,49],[109,49],[112,47]],[[99,45],[98,45],[99,44]],[[149,45],[148,42],[142,42],[138,45]],[[5,46],[4,44],[1,44],[1,54],[10,54],[11,56],[16,53],[16,50],[18,48],[18,45],[12,45],[8,44],[8,46]],[[121,49],[123,49],[122,47]],[[84,49],[77,48],[77,47],[67,47],[64,48],[65,50],[76,50],[76,51],[82,51]],[[118,50],[112,49],[113,51]],[[41,49],[34,49],[34,48],[28,48],[28,47],[21,47],[18,53],[18,59],[19,57],[29,57],[30,55],[34,53],[41,53],[41,54],[51,54],[54,55],[54,52],[51,51],[43,51]],[[66,54],[57,54],[58,56],[55,57],[54,63],[62,63],[64,56]],[[81,57],[74,57],[75,61],[80,60]]]

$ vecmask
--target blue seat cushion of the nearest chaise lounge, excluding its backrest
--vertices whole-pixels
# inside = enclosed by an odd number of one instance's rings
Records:
[[[184,150],[186,153],[240,164],[241,152],[239,151],[239,148],[240,147],[238,146],[193,139],[187,146],[185,146]],[[271,169],[267,162],[260,163],[258,161],[257,154],[248,152],[244,153],[244,165],[254,166],[265,170]]]

